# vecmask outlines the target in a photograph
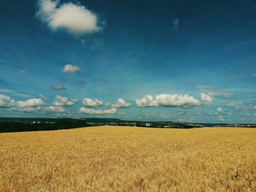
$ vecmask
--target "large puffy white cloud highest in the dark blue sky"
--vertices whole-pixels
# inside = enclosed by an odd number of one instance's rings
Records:
[[[78,36],[100,30],[97,15],[72,2],[60,4],[59,1],[39,0],[37,16],[53,31],[64,29]]]

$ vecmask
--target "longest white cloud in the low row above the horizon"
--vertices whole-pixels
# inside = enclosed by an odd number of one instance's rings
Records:
[[[138,107],[182,107],[189,108],[199,106],[201,102],[195,99],[193,96],[178,95],[178,94],[159,94],[155,96],[145,96],[142,99],[136,99]]]

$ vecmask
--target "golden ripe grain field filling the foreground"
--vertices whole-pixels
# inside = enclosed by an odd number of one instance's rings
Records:
[[[256,129],[0,134],[0,191],[256,191]]]

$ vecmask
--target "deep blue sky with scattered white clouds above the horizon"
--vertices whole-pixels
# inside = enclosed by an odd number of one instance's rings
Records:
[[[0,1],[0,117],[256,123],[256,1]]]

